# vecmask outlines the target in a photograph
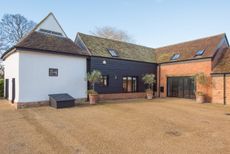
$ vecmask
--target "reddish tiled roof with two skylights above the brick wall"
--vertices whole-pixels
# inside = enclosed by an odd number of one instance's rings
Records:
[[[180,57],[176,61],[213,57],[218,44],[224,37],[225,34],[220,34],[194,41],[157,48],[155,49],[157,62],[171,62],[171,57],[177,53],[180,54]],[[204,54],[201,56],[195,56],[198,50],[205,50]]]

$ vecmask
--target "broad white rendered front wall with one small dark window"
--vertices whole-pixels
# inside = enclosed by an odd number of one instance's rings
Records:
[[[57,93],[87,97],[86,58],[20,51],[19,66],[18,102],[46,101]],[[49,68],[57,68],[58,77],[50,77]]]

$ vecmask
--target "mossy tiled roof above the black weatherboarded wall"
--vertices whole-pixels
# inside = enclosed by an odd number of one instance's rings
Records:
[[[92,56],[134,60],[150,63],[156,62],[154,49],[152,48],[135,45],[131,43],[125,43],[121,41],[115,41],[106,38],[100,38],[82,33],[78,33],[78,37],[79,36],[88,48],[88,50],[91,52]],[[119,56],[112,57],[108,52],[108,49],[116,50]]]

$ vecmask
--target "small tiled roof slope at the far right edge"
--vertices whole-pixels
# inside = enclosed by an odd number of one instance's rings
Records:
[[[222,59],[213,69],[213,73],[230,73],[230,48],[226,48]]]

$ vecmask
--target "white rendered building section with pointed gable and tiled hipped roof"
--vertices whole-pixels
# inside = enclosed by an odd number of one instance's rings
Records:
[[[48,104],[48,94],[87,97],[86,56],[50,13],[2,56],[5,97],[17,108]]]

